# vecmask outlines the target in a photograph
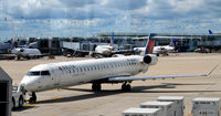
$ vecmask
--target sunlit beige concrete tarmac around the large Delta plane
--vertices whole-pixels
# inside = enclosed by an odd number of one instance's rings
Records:
[[[88,57],[86,57],[88,59]],[[34,65],[82,60],[56,56],[31,61],[0,61],[0,66],[19,83]],[[159,57],[156,65],[143,75],[206,74],[221,62],[221,54],[177,53]],[[191,114],[194,97],[221,97],[221,65],[209,77],[147,80],[131,83],[131,92],[122,93],[122,84],[103,84],[99,93],[91,92],[91,84],[36,93],[38,103],[12,112],[12,116],[122,116],[129,107],[155,101],[158,96],[185,96],[185,116]]]

